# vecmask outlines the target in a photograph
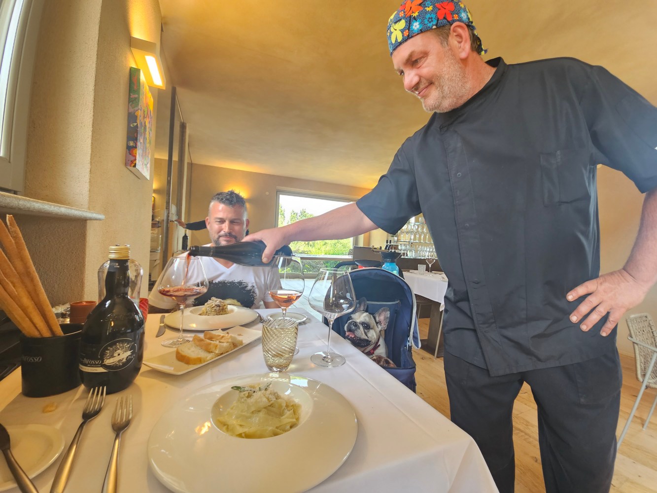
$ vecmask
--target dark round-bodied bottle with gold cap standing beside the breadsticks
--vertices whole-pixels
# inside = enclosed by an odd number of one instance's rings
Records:
[[[79,369],[85,387],[119,392],[137,377],[144,358],[144,317],[128,297],[127,245],[110,247],[105,296],[82,326]]]

